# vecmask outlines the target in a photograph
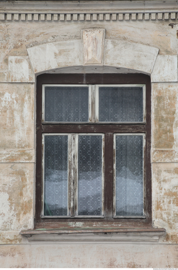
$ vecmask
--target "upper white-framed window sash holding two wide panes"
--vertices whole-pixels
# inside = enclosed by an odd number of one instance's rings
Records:
[[[57,97],[55,93],[52,95],[52,92],[50,93],[51,90],[47,89],[47,87],[68,87],[70,95],[68,96],[65,93],[67,89],[54,89],[54,91],[61,91]],[[77,93],[78,96],[74,94],[75,89],[73,89],[72,94],[71,90],[73,87],[79,88]],[[82,88],[85,89],[85,92]],[[88,91],[86,88],[88,88]],[[135,91],[133,88],[135,88]],[[140,92],[141,89],[139,88],[142,88],[142,92]],[[43,84],[42,123],[143,124],[146,123],[145,89],[145,84]],[[134,92],[132,93],[132,91]],[[60,94],[63,95],[61,99]],[[72,102],[70,98],[74,98],[75,102]],[[49,102],[47,102],[47,100],[49,100]],[[59,106],[56,106],[56,103],[59,103]],[[65,109],[63,108],[63,105]],[[47,106],[49,107],[49,117],[47,117]],[[135,110],[138,110],[139,108],[140,115],[138,115],[138,111],[135,113]],[[80,110],[80,112],[78,112],[78,110]],[[52,114],[54,120],[51,118]],[[66,121],[57,121],[57,118],[61,117],[58,115],[61,114],[63,114],[62,118],[67,119]],[[81,114],[83,115],[83,119]],[[86,116],[86,114],[88,115]],[[102,117],[102,115],[104,116]],[[119,115],[121,115],[120,119],[122,118],[122,121],[119,121]],[[134,117],[137,119],[134,120]]]

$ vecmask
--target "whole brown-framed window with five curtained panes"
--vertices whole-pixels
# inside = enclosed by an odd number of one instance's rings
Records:
[[[151,224],[150,145],[149,76],[39,75],[36,226]]]

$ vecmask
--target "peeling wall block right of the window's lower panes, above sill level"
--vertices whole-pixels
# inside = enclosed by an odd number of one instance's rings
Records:
[[[178,232],[178,164],[153,163],[154,226]]]

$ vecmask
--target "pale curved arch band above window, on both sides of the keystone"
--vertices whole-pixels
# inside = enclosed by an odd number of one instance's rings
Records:
[[[87,46],[89,49],[89,43]],[[104,46],[101,63],[89,62],[89,66],[93,67],[93,71],[94,66],[109,66],[132,69],[150,75],[159,51],[151,46],[125,40],[105,39],[104,42],[101,42],[101,46]],[[92,50],[95,50],[93,49],[94,45],[91,47]],[[27,51],[34,73],[71,66],[84,66],[86,63],[85,51],[87,49],[84,50],[82,39],[42,44],[28,48]]]

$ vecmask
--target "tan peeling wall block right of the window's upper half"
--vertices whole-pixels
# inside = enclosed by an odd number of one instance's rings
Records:
[[[152,83],[152,146],[155,149],[175,149],[177,131],[174,133],[173,128],[177,123],[177,92],[176,82]]]

